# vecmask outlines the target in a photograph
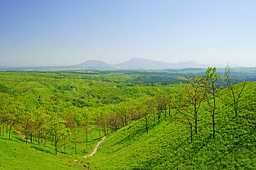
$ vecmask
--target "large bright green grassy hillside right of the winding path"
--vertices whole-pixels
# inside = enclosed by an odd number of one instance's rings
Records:
[[[256,83],[245,86],[236,118],[229,106],[218,102],[214,139],[211,116],[203,111],[192,143],[184,124],[162,119],[159,125],[151,122],[147,134],[138,120],[107,137],[86,161],[92,170],[255,170]]]

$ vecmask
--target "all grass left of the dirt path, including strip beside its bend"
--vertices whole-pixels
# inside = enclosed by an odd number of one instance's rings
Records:
[[[48,139],[47,147],[38,146],[38,142],[33,143],[18,136],[15,132],[11,132],[11,140],[9,134],[0,136],[0,170],[83,170],[86,160],[83,156],[92,153],[98,142],[102,139],[95,127],[91,127],[91,135],[86,139],[84,134],[80,134],[78,138],[81,141],[77,144],[77,154],[75,154],[75,146],[70,137],[69,143],[62,147],[57,155],[55,154],[53,143]],[[101,132],[103,134],[103,132]],[[43,145],[43,144],[41,144]],[[77,160],[77,161],[74,161]],[[79,160],[82,162],[79,163]]]

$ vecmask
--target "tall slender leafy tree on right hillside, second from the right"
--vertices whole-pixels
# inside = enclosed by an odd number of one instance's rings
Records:
[[[218,92],[221,90],[222,87],[217,87],[217,81],[219,79],[219,74],[216,72],[216,68],[208,68],[205,74],[202,75],[204,89],[206,92],[205,101],[207,106],[204,108],[211,113],[213,119],[213,138],[215,137],[215,110],[217,109],[216,104],[216,97],[218,96]]]

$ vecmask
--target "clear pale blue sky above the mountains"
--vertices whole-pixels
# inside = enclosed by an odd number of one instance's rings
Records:
[[[256,0],[1,0],[0,66],[133,57],[256,67]]]

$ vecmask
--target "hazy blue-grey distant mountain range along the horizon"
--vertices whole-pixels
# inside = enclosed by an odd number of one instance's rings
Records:
[[[143,58],[132,58],[128,61],[119,64],[109,65],[101,60],[87,60],[84,63],[73,66],[51,66],[51,67],[7,67],[0,66],[0,70],[25,70],[25,69],[39,69],[39,68],[108,68],[108,69],[175,69],[175,68],[225,68],[225,65],[217,64],[199,64],[194,61],[167,63],[162,61],[154,61]],[[238,65],[231,65],[231,67],[241,67]]]

